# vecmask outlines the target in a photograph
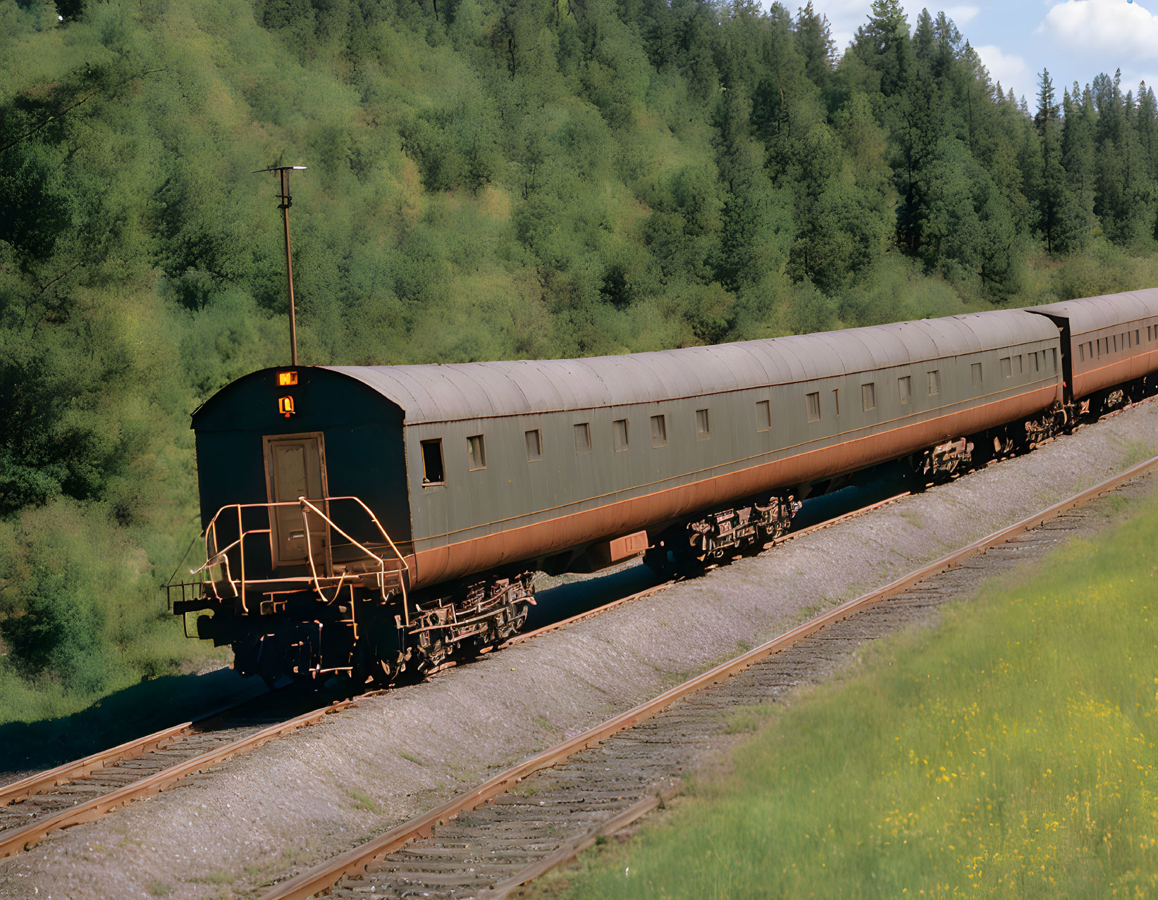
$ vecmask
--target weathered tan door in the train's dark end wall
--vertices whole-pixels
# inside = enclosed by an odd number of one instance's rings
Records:
[[[293,503],[291,507],[270,509],[270,551],[273,568],[308,566],[308,549],[313,549],[318,574],[329,575],[330,526],[315,514],[302,515],[296,506],[299,497],[316,501],[315,506],[329,515],[325,478],[325,441],[320,431],[299,435],[277,435],[262,438],[265,443],[265,477],[271,503]],[[306,541],[309,529],[309,541]]]

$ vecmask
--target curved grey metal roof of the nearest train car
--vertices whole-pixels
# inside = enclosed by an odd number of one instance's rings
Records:
[[[397,404],[408,423],[441,422],[672,400],[1056,338],[1049,319],[1018,312],[584,360],[324,368],[357,378]]]

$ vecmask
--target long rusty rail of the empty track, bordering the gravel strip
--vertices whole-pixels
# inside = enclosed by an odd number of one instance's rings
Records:
[[[1138,463],[1137,465],[1127,469],[1124,472],[1111,475],[1093,487],[1086,488],[1085,490],[1067,497],[1058,503],[1054,503],[1047,509],[1035,512],[1032,516],[1027,516],[1012,525],[995,531],[980,540],[975,540],[966,547],[947,553],[933,562],[922,566],[921,568],[910,571],[908,575],[903,575],[902,577],[889,582],[882,588],[878,588],[877,590],[857,597],[856,599],[841,604],[840,606],[836,606],[828,612],[815,617],[814,619],[809,619],[808,621],[798,625],[796,628],[792,628],[779,637],[776,637],[768,643],[755,648],[754,650],[749,650],[748,652],[730,659],[728,662],[721,663],[681,685],[665,691],[662,694],[653,698],[652,700],[640,703],[625,713],[621,713],[620,715],[588,729],[570,740],[565,740],[564,743],[550,747],[542,753],[537,753],[525,762],[521,762],[506,772],[499,773],[476,788],[439,804],[434,809],[428,810],[417,818],[390,828],[378,838],[374,838],[359,847],[339,854],[332,860],[321,863],[313,869],[308,869],[305,872],[283,881],[281,884],[274,885],[272,890],[264,894],[263,900],[303,900],[305,898],[314,897],[315,894],[325,893],[343,877],[366,872],[369,866],[373,865],[375,860],[394,853],[417,838],[430,838],[437,826],[450,821],[457,818],[461,813],[469,812],[494,797],[505,794],[528,775],[538,772],[540,769],[556,766],[576,753],[600,744],[611,735],[651,718],[674,703],[676,700],[710,687],[719,681],[724,681],[732,676],[745,671],[753,665],[753,663],[756,663],[775,652],[778,652],[779,650],[791,647],[805,637],[813,635],[827,625],[846,619],[853,613],[911,588],[917,582],[960,566],[970,556],[984,553],[991,547],[1006,543],[1010,538],[1017,534],[1021,534],[1038,528],[1071,509],[1084,506],[1101,494],[1114,490],[1121,485],[1124,485],[1127,481],[1144,474],[1155,466],[1158,466],[1158,456]],[[529,871],[529,869],[525,871]]]

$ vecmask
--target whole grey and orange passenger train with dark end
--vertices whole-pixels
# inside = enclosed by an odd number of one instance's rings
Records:
[[[262,369],[192,414],[205,561],[170,608],[270,683],[422,677],[522,628],[537,571],[757,553],[863,470],[943,481],[1156,379],[1158,289],[621,356]]]

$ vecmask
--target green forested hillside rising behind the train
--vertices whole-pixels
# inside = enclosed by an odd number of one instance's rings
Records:
[[[866,0],[0,2],[0,721],[204,662],[189,413],[305,364],[623,353],[1152,285],[1158,110]]]

